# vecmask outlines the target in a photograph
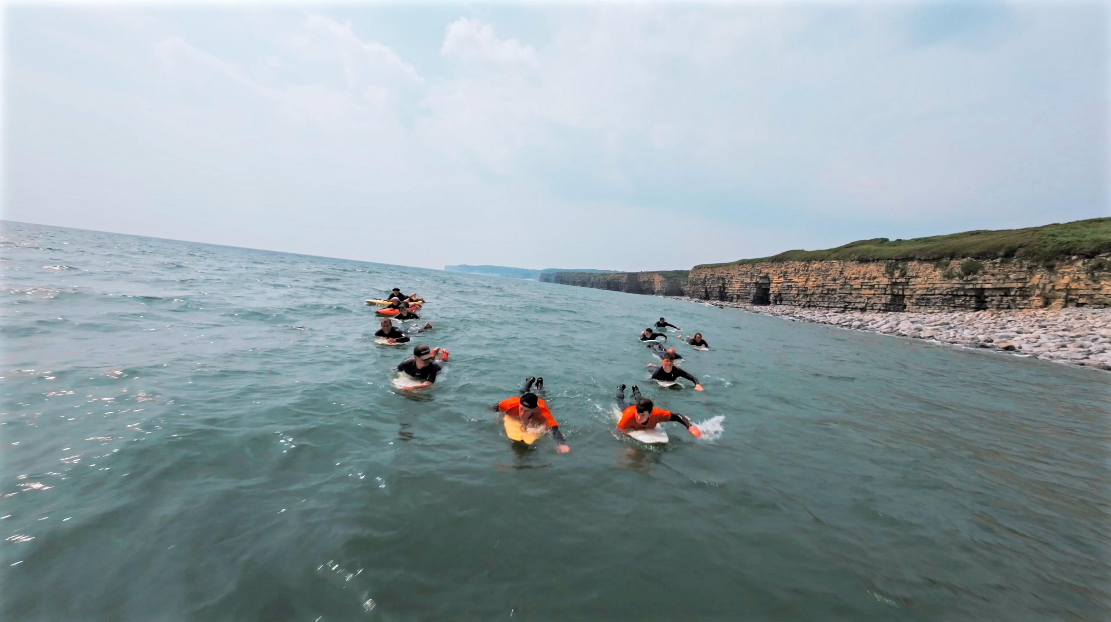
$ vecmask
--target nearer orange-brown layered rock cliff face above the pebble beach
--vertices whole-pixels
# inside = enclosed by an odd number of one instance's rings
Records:
[[[695,265],[691,298],[858,311],[1111,307],[1111,255]],[[628,290],[623,290],[628,291]]]

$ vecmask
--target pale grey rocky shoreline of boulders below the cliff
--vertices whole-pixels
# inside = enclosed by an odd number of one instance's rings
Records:
[[[742,309],[792,321],[832,324],[894,337],[984,348],[1057,363],[1111,371],[1111,309],[873,312],[805,309],[784,304],[678,300]]]

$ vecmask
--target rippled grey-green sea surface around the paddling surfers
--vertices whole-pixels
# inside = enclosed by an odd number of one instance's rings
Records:
[[[1111,374],[655,297],[2,224],[0,619],[1105,620]],[[363,300],[428,299],[451,362]],[[705,385],[663,390],[664,315]],[[675,340],[672,340],[675,341]],[[568,437],[490,404],[544,378]],[[647,448],[618,383],[690,415]]]

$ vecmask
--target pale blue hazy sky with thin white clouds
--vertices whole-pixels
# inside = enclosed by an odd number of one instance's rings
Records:
[[[0,217],[657,270],[1109,215],[1109,7],[8,2]]]

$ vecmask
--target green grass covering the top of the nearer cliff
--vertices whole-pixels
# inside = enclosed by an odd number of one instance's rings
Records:
[[[772,257],[742,259],[728,263],[707,263],[695,268],[737,265],[759,261],[822,261],[831,259],[885,261],[918,259],[1019,258],[1049,261],[1065,255],[1093,257],[1111,251],[1111,218],[1093,218],[1065,223],[1000,229],[998,231],[964,231],[949,235],[931,235],[912,240],[875,238],[858,240],[835,249],[821,251],[784,251]]]

